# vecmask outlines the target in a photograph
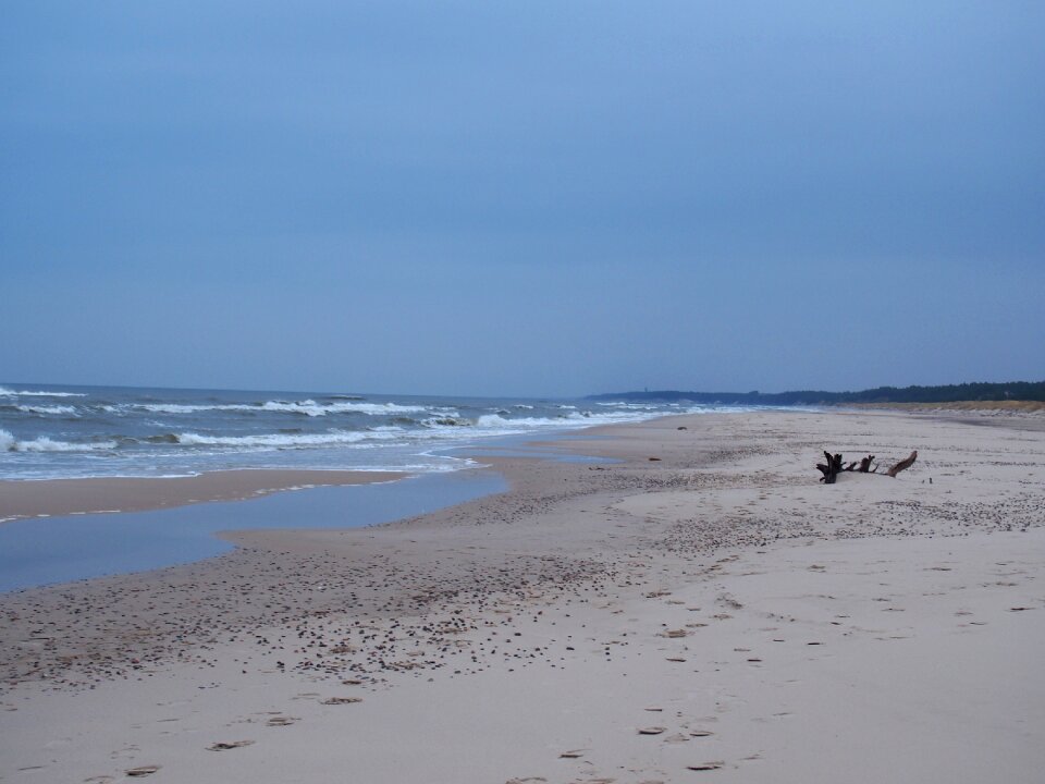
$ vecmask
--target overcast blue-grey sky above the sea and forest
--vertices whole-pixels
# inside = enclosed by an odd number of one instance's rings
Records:
[[[1045,379],[1045,3],[0,9],[0,381]]]

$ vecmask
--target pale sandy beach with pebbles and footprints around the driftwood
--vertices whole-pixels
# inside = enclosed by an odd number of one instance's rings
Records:
[[[0,781],[1038,782],[1043,421],[598,428],[548,449],[619,462],[0,595]]]

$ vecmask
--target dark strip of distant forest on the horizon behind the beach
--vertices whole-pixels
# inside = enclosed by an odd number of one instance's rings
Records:
[[[966,383],[946,387],[878,387],[862,392],[617,392],[590,395],[602,401],[669,401],[722,405],[845,405],[847,403],[958,403],[961,401],[1045,401],[1045,381]]]

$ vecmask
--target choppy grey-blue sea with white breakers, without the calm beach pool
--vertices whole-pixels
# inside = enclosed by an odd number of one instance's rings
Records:
[[[679,403],[0,384],[0,479],[232,468],[432,474],[462,448],[666,414]],[[455,454],[456,453],[456,454]]]

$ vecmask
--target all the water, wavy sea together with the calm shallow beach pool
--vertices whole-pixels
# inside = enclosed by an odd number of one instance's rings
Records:
[[[476,460],[576,460],[527,445],[594,425],[727,411],[676,402],[0,384],[0,479],[174,477],[233,468],[405,471],[394,482],[0,524],[0,591],[218,555],[236,528],[351,527],[505,489]],[[591,458],[595,460],[595,458]]]

